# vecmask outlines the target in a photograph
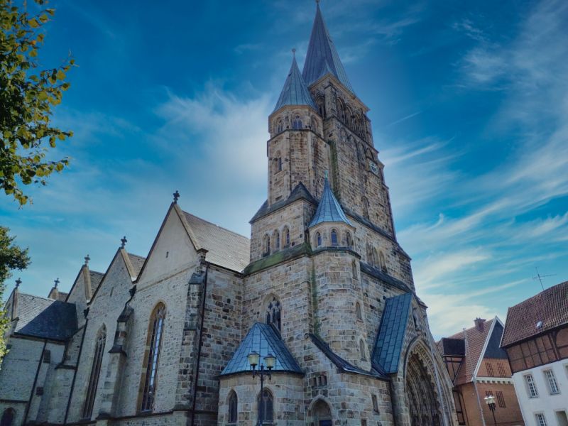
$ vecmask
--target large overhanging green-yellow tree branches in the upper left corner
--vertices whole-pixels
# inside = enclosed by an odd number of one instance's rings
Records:
[[[43,26],[54,9],[45,0],[34,0],[38,13],[0,0],[0,188],[20,205],[28,202],[21,185],[45,185],[68,159],[47,160],[49,148],[72,136],[51,124],[52,109],[70,86],[65,73],[73,66],[67,58],[56,68],[40,70],[38,52]]]

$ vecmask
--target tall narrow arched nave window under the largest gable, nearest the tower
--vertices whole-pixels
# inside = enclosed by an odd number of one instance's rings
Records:
[[[165,305],[158,303],[150,317],[148,337],[146,339],[146,359],[144,360],[141,381],[142,390],[141,411],[152,411],[156,390],[156,376],[158,375],[158,361],[160,360],[160,347],[162,346],[163,328],[165,321]]]

